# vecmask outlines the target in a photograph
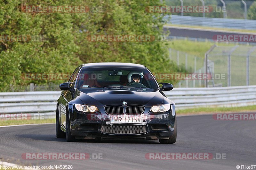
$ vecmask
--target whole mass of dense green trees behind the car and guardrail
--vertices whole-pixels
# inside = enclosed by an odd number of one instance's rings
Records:
[[[88,6],[86,13],[28,13],[25,6]],[[9,85],[63,80],[22,79],[24,73],[72,73],[82,63],[129,62],[152,72],[177,72],[167,42],[92,42],[91,35],[165,35],[163,15],[148,13],[153,0],[5,0],[0,2],[1,35],[27,35],[28,41],[0,41],[0,91]],[[102,11],[93,7],[102,6]],[[168,33],[166,33],[168,34]],[[40,36],[35,41],[33,36]],[[30,38],[29,38],[30,37]]]

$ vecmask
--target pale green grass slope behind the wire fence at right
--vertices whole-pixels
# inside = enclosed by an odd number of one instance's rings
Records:
[[[214,42],[199,42],[189,40],[172,40],[169,41],[169,47],[172,49],[171,60],[177,63],[177,51],[180,51],[180,66],[185,65],[185,53],[188,53],[188,72],[194,72],[194,57],[197,57],[197,70],[204,66],[204,54],[214,45]],[[236,44],[227,43],[216,43],[217,46],[225,46],[227,49],[235,47]],[[231,85],[246,85],[246,54],[252,46],[239,45],[231,55]],[[228,55],[221,54],[221,50],[224,48],[215,48],[215,51],[210,53],[209,60],[214,61],[214,72],[223,74],[225,73],[225,79],[215,80],[215,84],[222,84],[227,86],[228,84]],[[216,56],[215,52],[218,51],[219,55]],[[244,55],[244,56],[242,56]],[[255,63],[255,57],[250,57],[250,85],[255,85],[256,79],[253,77],[256,67],[253,66]],[[210,82],[210,85],[212,83]]]

